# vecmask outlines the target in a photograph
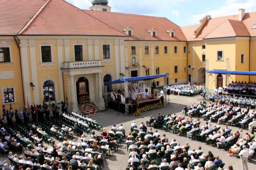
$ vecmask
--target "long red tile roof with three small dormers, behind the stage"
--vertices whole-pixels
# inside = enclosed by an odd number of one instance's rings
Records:
[[[128,40],[187,40],[180,27],[167,18],[102,11],[84,11],[119,31],[123,31],[127,27],[132,27],[133,36],[130,36]],[[148,30],[152,28],[157,30],[156,37],[152,37],[148,33]],[[171,37],[166,33],[170,29],[175,30],[175,37]]]

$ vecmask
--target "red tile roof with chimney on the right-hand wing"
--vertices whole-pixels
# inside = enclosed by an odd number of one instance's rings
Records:
[[[203,40],[210,37],[256,36],[256,29],[252,29],[252,26],[256,24],[256,12],[245,13],[242,22],[238,21],[238,16],[230,15],[210,18],[210,20],[206,21],[196,38],[190,35],[191,33],[193,34],[193,26],[195,25],[181,28],[188,41]]]

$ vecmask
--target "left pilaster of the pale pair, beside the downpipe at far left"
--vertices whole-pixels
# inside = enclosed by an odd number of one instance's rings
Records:
[[[23,93],[24,101],[31,103],[31,93],[30,93],[30,79],[28,72],[28,44],[27,40],[20,40],[20,62],[21,62],[21,71],[22,71],[22,82],[23,82]]]

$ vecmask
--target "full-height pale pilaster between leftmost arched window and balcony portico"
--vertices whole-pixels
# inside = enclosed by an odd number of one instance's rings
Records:
[[[59,90],[60,90],[60,101],[64,101],[64,94],[63,92],[63,76],[62,76],[62,71],[60,68],[63,67],[63,53],[62,53],[62,40],[57,40],[56,43],[57,46],[57,53],[58,53],[58,68],[59,68]],[[58,96],[58,95],[56,95]]]

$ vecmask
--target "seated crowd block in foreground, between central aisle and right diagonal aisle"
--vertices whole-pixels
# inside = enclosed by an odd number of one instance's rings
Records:
[[[207,155],[203,154],[200,146],[189,150],[188,142],[182,146],[176,139],[168,139],[158,130],[147,130],[143,122],[140,126],[133,122],[131,127],[132,132],[126,139],[127,150],[130,151],[126,170],[208,170],[212,166],[224,166],[219,156],[214,157],[211,151]]]

